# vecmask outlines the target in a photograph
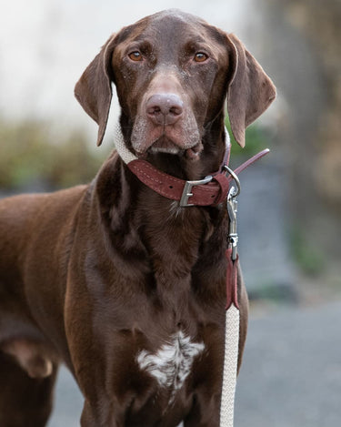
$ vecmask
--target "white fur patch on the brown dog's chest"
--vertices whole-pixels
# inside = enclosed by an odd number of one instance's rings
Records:
[[[195,357],[204,349],[203,342],[192,342],[190,337],[186,337],[180,330],[155,354],[140,351],[137,363],[141,370],[155,377],[160,386],[172,387],[174,396],[186,381]]]

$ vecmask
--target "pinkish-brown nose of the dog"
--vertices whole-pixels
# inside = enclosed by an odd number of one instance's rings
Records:
[[[184,103],[175,94],[155,94],[146,102],[146,114],[155,125],[174,125],[183,114]]]

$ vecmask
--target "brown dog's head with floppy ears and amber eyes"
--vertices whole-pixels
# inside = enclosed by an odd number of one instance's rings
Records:
[[[276,89],[240,40],[177,10],[150,15],[111,36],[85,69],[75,97],[105,127],[114,82],[127,147],[137,156],[166,152],[196,159],[210,132],[236,141],[276,97]],[[112,131],[112,129],[109,129]],[[222,135],[216,133],[216,135]]]

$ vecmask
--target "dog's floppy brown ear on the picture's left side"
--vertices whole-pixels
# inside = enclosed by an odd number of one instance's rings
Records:
[[[98,124],[97,146],[105,135],[112,98],[110,64],[115,48],[115,36],[111,36],[100,53],[86,67],[75,85],[75,97],[85,112]]]

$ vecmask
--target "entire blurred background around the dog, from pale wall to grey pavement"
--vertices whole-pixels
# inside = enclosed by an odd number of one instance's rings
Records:
[[[236,427],[341,420],[340,0],[0,0],[0,197],[89,181],[113,147],[73,96],[100,46],[169,7],[236,33],[274,80],[276,102],[234,145],[240,257],[251,300]],[[79,425],[65,369],[49,427]]]

